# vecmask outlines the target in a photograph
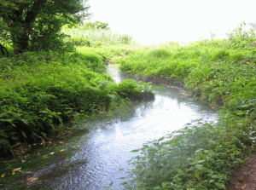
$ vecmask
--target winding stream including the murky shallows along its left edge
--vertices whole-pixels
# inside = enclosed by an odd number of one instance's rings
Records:
[[[115,66],[108,66],[108,73],[116,83],[124,79]],[[90,132],[81,131],[69,141],[59,142],[57,151],[64,151],[55,158],[46,155],[51,158],[51,164],[24,174],[25,187],[98,190],[111,185],[109,189],[122,189],[119,185],[127,181],[129,175],[122,169],[132,169],[127,161],[137,156],[131,153],[132,150],[182,129],[191,121],[218,119],[212,107],[195,101],[182,89],[155,87],[154,94],[154,101],[138,103],[131,112],[124,112],[125,115],[120,114],[119,118],[79,124],[77,127]],[[47,159],[44,155],[38,158]]]

